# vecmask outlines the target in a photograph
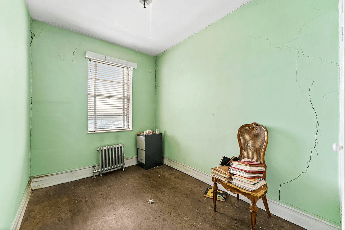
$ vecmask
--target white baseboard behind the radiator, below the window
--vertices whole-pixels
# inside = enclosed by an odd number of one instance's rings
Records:
[[[137,157],[129,157],[124,159],[125,162],[125,168],[136,165],[137,164]],[[99,169],[98,164],[96,165],[96,170]],[[67,183],[70,181],[79,180],[86,177],[92,177],[92,165],[78,168],[78,169],[72,169],[64,172],[57,172],[47,175],[42,175],[38,177],[33,177],[31,182],[31,189],[41,189],[50,187],[57,184]],[[118,169],[114,169],[118,170]],[[114,171],[109,170],[109,171]],[[109,172],[107,171],[107,172]],[[106,173],[106,172],[104,172]],[[96,173],[98,175],[99,173]]]

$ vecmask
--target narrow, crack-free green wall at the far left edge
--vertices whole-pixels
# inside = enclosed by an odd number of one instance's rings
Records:
[[[30,177],[30,20],[24,0],[0,1],[0,229],[10,229]]]

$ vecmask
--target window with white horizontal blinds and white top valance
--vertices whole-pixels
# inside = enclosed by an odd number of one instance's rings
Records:
[[[131,62],[87,51],[88,132],[132,130]],[[124,64],[131,64],[126,66]],[[136,67],[136,64],[135,64]]]

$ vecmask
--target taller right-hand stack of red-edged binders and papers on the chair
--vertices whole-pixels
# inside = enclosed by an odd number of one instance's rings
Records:
[[[253,191],[266,184],[264,176],[264,164],[230,161],[228,172],[235,174],[231,177],[231,183],[248,191]]]

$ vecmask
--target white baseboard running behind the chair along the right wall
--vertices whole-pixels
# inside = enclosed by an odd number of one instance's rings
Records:
[[[206,184],[213,185],[212,182],[212,176],[201,172],[200,170],[194,169],[190,166],[187,166],[186,164],[180,163],[178,161],[175,161],[171,158],[163,156],[163,163],[167,166],[170,166],[174,169],[177,169],[181,172],[184,172],[191,177],[194,177],[200,181],[203,181]],[[226,191],[223,186],[219,185],[218,188],[220,190]],[[228,194],[237,197],[236,194],[233,194],[229,191],[227,191]],[[250,203],[250,200],[244,196],[240,196],[240,199],[243,201],[246,201],[247,203]],[[332,223],[329,223],[327,221],[318,219],[314,216],[311,216],[305,212],[299,211],[297,209],[291,208],[289,206],[286,206],[282,203],[279,203],[275,200],[267,198],[267,203],[269,207],[270,213],[276,215],[277,217],[280,217],[284,220],[287,220],[289,222],[292,222],[294,224],[297,224],[298,226],[308,229],[308,230],[338,230],[341,229],[341,227],[336,226]],[[257,203],[258,208],[265,210],[264,203],[262,202],[262,199],[260,199]],[[249,213],[249,212],[248,212]]]

